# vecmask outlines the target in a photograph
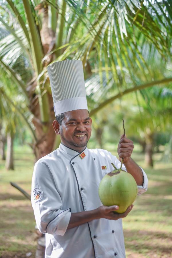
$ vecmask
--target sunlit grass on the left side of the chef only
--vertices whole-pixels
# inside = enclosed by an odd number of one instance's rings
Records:
[[[10,185],[15,182],[29,194],[34,157],[27,146],[15,150],[15,170],[6,171],[0,161],[0,257],[24,258],[31,252],[35,257],[35,219],[31,202]]]

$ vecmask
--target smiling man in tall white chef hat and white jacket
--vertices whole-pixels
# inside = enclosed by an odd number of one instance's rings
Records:
[[[66,60],[48,67],[56,120],[60,134],[57,150],[35,164],[32,206],[37,227],[46,233],[46,258],[125,257],[122,219],[118,206],[103,206],[98,186],[120,161],[110,152],[87,148],[91,136],[82,62]],[[122,136],[118,155],[123,169],[133,175],[138,194],[147,190],[147,176],[132,159],[133,142]]]

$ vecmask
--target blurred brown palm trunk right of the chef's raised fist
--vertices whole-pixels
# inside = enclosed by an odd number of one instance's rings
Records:
[[[153,167],[153,134],[145,134],[145,165]]]

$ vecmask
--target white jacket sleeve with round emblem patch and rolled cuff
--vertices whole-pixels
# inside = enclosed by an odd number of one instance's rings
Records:
[[[31,203],[41,233],[65,234],[71,216],[70,208],[62,209],[53,175],[44,161],[38,161],[34,167]]]

